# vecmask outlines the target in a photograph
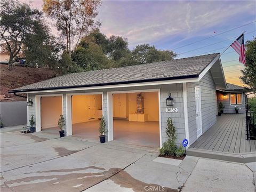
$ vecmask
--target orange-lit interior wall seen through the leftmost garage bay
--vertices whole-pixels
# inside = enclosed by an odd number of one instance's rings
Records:
[[[62,114],[62,97],[41,98],[41,127],[42,129],[58,126]]]

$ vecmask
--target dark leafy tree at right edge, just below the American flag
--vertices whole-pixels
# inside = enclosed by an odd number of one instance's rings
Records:
[[[246,88],[256,93],[256,37],[245,44],[246,65],[242,70],[243,76],[240,77]]]

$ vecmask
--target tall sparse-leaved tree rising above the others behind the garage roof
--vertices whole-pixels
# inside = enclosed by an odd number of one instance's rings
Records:
[[[99,21],[94,22],[100,5],[101,2],[95,0],[43,0],[43,12],[57,20],[57,29],[66,38],[66,52],[69,55],[75,39],[74,50],[83,35],[100,26]]]

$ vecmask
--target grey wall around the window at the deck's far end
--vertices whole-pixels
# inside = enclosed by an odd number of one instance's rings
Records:
[[[242,93],[242,92],[232,92],[232,93]],[[226,97],[224,97],[224,94],[226,94]],[[235,106],[239,108],[239,113],[245,113],[245,94],[242,93],[243,97],[243,105],[230,105],[230,92],[217,92],[217,98],[218,98],[218,105],[220,102],[222,102],[222,105],[225,107],[223,109],[223,113],[236,113]]]

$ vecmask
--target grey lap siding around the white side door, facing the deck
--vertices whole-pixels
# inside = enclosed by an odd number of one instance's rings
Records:
[[[190,145],[197,139],[196,132],[196,105],[195,86],[201,87],[201,110],[202,110],[202,132],[204,133],[217,122],[217,102],[215,94],[215,83],[211,72],[208,71],[201,81],[187,83],[188,100],[188,126]]]

